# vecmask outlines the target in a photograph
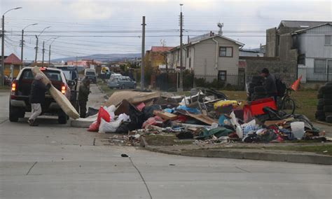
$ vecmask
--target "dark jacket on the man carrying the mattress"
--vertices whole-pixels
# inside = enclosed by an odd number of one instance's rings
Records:
[[[50,89],[50,84],[44,85],[39,80],[32,81],[30,92],[31,104],[43,104],[45,102],[45,92]]]

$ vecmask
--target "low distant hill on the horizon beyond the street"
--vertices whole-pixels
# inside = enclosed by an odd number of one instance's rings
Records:
[[[134,58],[140,58],[141,53],[127,53],[127,54],[95,54],[95,55],[87,55],[83,57],[77,57],[78,60],[89,59],[89,60],[97,60],[99,62],[118,62],[123,60],[132,60]],[[63,57],[52,60],[52,62],[67,62],[67,61],[75,61],[76,57]]]

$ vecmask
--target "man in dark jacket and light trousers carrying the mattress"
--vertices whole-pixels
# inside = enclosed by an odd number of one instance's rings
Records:
[[[30,116],[28,123],[31,126],[37,126],[36,118],[41,114],[41,104],[45,102],[45,92],[50,89],[50,83],[44,85],[41,82],[43,78],[42,74],[36,74],[34,81],[32,81],[30,92],[30,104],[32,109],[32,115]]]

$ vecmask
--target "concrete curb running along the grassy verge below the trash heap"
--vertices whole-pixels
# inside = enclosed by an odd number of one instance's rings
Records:
[[[144,138],[143,138],[144,139]],[[143,140],[141,139],[141,140]],[[280,151],[237,151],[237,150],[220,150],[220,149],[202,149],[191,151],[170,151],[165,149],[158,149],[155,146],[146,145],[143,146],[148,151],[166,153],[177,156],[191,156],[191,157],[203,157],[203,158],[233,158],[233,159],[247,159],[247,160],[268,160],[287,163],[308,163],[319,165],[332,165],[332,157],[317,155],[314,153],[282,153]]]

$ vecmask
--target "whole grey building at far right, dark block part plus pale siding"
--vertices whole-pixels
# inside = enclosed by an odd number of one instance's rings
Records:
[[[332,57],[331,46],[325,44],[325,40],[328,43],[331,38],[331,24],[332,22],[282,20],[278,27],[266,30],[265,56],[277,57],[277,62],[288,66],[280,72],[285,76],[291,74],[289,81],[300,75],[303,76],[303,82],[331,81],[327,73],[328,60]],[[314,71],[314,62],[317,67],[320,65],[320,74]],[[322,65],[325,70],[321,70]]]

